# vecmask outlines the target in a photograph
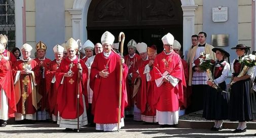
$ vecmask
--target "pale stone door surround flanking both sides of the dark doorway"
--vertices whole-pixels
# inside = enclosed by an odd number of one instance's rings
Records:
[[[87,13],[92,0],[75,0],[73,8],[69,9],[72,15],[72,36],[80,38],[82,42],[87,40]],[[181,0],[183,11],[183,51],[190,48],[191,35],[195,33],[195,11],[197,9],[194,0]]]

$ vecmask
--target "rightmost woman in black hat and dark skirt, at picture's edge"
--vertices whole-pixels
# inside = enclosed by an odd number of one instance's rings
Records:
[[[254,93],[251,93],[251,78],[253,77],[254,67],[250,67],[246,74],[237,77],[243,70],[244,65],[239,62],[243,58],[248,49],[244,44],[237,44],[236,47],[231,48],[236,50],[237,58],[231,64],[232,78],[235,83],[231,85],[231,94],[229,102],[229,119],[230,121],[238,121],[238,126],[233,132],[245,132],[246,122],[255,120],[256,113],[252,109],[256,104],[253,100]]]

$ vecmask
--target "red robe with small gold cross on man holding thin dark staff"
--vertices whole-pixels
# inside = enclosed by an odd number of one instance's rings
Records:
[[[72,64],[71,64],[72,63]],[[87,98],[87,77],[88,68],[86,67],[83,60],[80,59],[80,64],[83,68],[82,74],[80,74],[80,80],[78,80],[77,68],[78,58],[74,61],[70,61],[69,58],[65,58],[61,61],[59,68],[55,72],[56,76],[56,87],[57,87],[57,108],[60,117],[64,119],[75,119],[77,118],[77,90],[79,87],[79,116],[84,113],[84,108],[88,107]],[[64,77],[64,74],[70,70],[74,73],[72,77]],[[63,82],[62,82],[63,79]],[[83,105],[82,94],[85,97],[86,107]]]

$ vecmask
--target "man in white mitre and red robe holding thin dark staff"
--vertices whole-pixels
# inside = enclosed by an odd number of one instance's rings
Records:
[[[78,43],[75,39],[70,38],[66,42],[66,50],[68,57],[61,61],[59,68],[56,70],[56,87],[57,87],[57,108],[59,117],[57,124],[64,127],[64,131],[77,131],[78,113],[79,128],[86,125],[87,115],[87,84],[88,69],[83,60],[76,56],[78,52]],[[78,76],[80,74],[80,76]],[[78,89],[79,88],[79,89]],[[79,111],[78,96],[79,91]]]

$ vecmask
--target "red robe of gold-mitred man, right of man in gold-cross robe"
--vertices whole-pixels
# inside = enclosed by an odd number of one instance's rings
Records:
[[[41,109],[41,111],[43,111],[44,109],[48,111],[49,110],[49,105],[47,101],[48,93],[46,91],[46,80],[45,78],[43,78],[43,73],[46,74],[48,65],[51,62],[51,60],[47,58],[45,58],[45,60],[39,60],[39,58],[36,58],[34,60],[40,66],[40,71],[41,71],[40,76],[36,78],[36,82],[38,82],[38,85],[36,86],[36,88],[38,89],[39,94],[43,96],[41,101],[39,102],[39,109]],[[43,67],[45,68],[45,70],[43,70]]]

